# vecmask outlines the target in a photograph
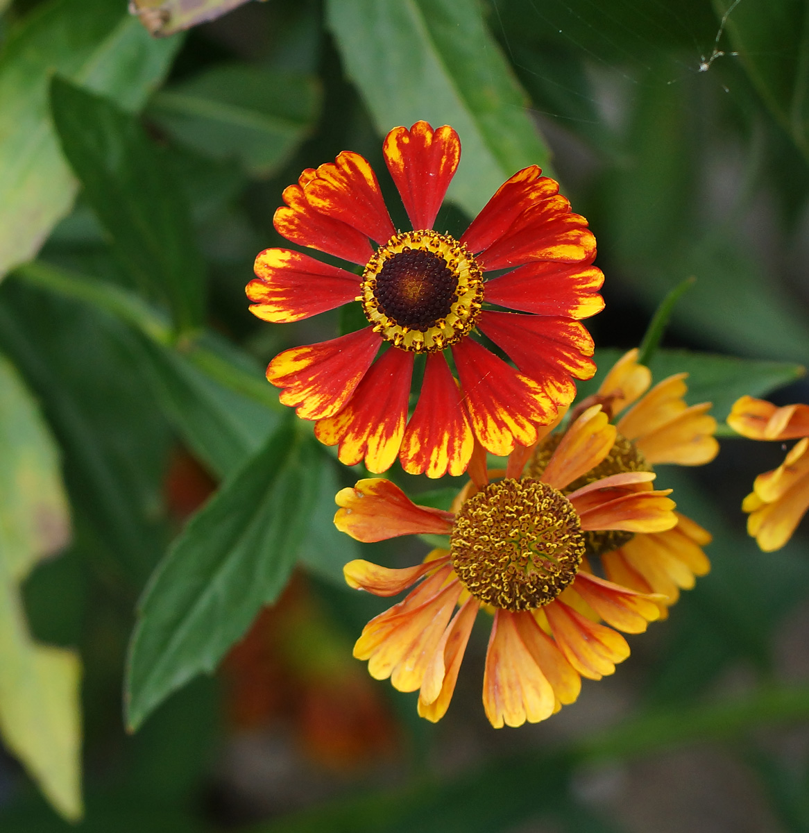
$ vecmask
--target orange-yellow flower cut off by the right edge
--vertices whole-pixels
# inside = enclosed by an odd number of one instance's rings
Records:
[[[780,549],[809,509],[809,405],[779,408],[763,399],[741,397],[733,403],[727,424],[752,440],[800,440],[777,469],[757,476],[742,502],[749,513],[747,532],[758,546],[765,552]]]

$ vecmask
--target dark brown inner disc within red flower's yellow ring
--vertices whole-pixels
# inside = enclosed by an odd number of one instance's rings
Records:
[[[449,315],[457,299],[458,276],[443,257],[405,248],[385,261],[376,276],[380,311],[400,327],[426,332]]]

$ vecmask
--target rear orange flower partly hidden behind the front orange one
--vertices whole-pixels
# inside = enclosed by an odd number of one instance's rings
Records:
[[[688,407],[687,373],[677,373],[649,389],[652,373],[638,364],[638,351],[630,350],[604,377],[598,393],[583,402],[598,402],[615,421],[613,447],[598,466],[568,488],[580,488],[602,477],[625,471],[653,471],[661,463],[702,466],[717,456],[719,444],[713,436],[717,421],[710,416],[710,402]],[[564,435],[562,435],[564,436]],[[539,443],[526,471],[537,476],[560,441],[558,434]],[[702,547],[711,534],[695,521],[677,514],[677,525],[665,531],[608,531],[590,533],[587,554],[600,558],[604,574],[633,590],[658,593],[661,617],[690,590],[696,576],[711,568]]]

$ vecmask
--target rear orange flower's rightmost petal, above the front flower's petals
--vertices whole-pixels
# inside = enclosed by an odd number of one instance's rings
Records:
[[[635,446],[653,464],[702,466],[719,453],[719,443],[713,436],[717,421],[707,413],[710,409],[710,402],[693,405],[666,425],[639,436]]]

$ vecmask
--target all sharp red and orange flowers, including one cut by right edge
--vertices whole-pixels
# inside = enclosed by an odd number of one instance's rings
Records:
[[[652,387],[635,350],[571,407],[575,380],[596,370],[582,319],[603,308],[603,274],[587,221],[539,167],[504,182],[456,240],[433,225],[457,133],[417,122],[392,130],[383,150],[413,231],[395,228],[357,153],[285,189],[276,230],[349,267],[267,249],[247,287],[251,311],[295,322],[355,302],[367,326],[280,353],[267,378],[346,465],[381,473],[398,457],[410,474],[469,475],[449,511],[414,504],[384,478],[336,496],[336,526],[359,541],[444,536],[415,566],[345,566],[350,586],[377,596],[412,588],[365,626],[355,656],[377,679],[419,691],[419,715],[437,721],[484,610],[489,721],[542,721],[576,700],[582,676],[626,659],[619,631],[667,616],[708,571],[710,534],[675,511],[671,490],[653,488],[653,466],[711,461],[716,421],[710,403],[687,406],[687,374]],[[730,421],[759,439],[804,437],[745,502],[751,534],[776,548],[809,503],[809,407],[744,397]],[[489,469],[489,454],[505,467]]]

